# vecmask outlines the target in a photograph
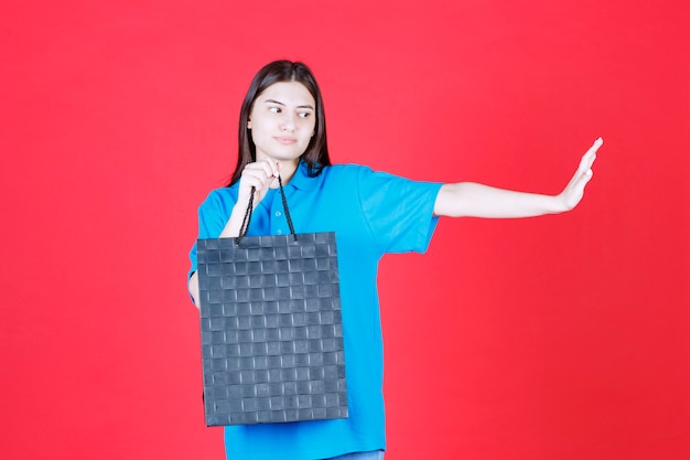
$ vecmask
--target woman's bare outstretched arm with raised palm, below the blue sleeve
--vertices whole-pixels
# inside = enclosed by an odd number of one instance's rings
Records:
[[[570,211],[580,203],[584,186],[592,179],[592,163],[602,146],[601,138],[586,151],[565,189],[558,195],[515,192],[474,182],[444,184],[433,213],[450,217],[517,218]]]

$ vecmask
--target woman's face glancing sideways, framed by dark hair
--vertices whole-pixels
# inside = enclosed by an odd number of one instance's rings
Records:
[[[254,101],[247,128],[256,146],[257,161],[269,157],[297,164],[314,136],[316,103],[299,82],[279,82]]]

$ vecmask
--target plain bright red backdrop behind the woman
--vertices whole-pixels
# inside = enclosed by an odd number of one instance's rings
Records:
[[[336,162],[556,193],[605,139],[574,212],[382,261],[387,459],[689,458],[689,4],[4,3],[0,457],[223,458],[186,257],[287,57]]]

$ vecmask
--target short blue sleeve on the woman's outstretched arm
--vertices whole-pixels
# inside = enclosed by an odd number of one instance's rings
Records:
[[[386,253],[424,253],[439,218],[433,206],[441,183],[420,182],[363,167],[358,199],[376,244]]]

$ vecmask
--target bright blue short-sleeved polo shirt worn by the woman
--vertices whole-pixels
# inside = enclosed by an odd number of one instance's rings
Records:
[[[220,235],[237,188],[214,190],[200,206],[200,238]],[[228,459],[300,460],[386,448],[378,263],[386,253],[427,250],[440,188],[354,164],[326,167],[310,178],[300,164],[283,188],[295,232],[336,235],[349,418],[226,427]],[[247,234],[289,233],[280,192],[271,190],[256,206]],[[191,274],[196,246],[190,259]]]

